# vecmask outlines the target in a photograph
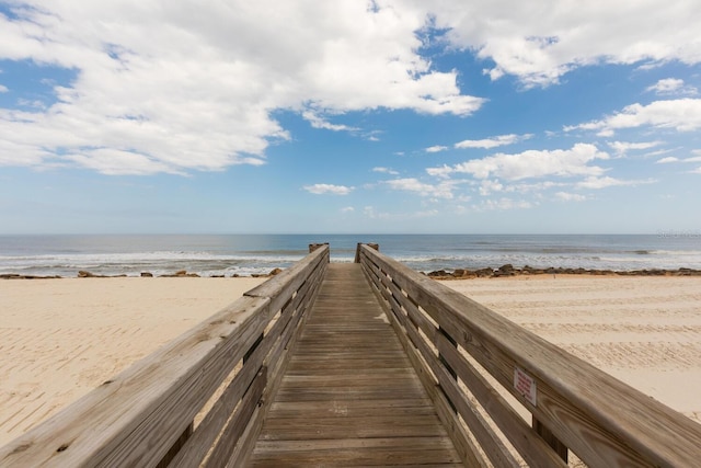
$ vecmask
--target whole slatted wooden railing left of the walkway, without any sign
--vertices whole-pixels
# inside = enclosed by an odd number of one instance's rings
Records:
[[[1,447],[0,466],[240,466],[327,262],[329,246],[313,246],[290,269]],[[203,408],[210,408],[204,416]]]

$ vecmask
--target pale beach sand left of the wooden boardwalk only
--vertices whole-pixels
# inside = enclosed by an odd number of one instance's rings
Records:
[[[0,281],[0,445],[263,281]]]

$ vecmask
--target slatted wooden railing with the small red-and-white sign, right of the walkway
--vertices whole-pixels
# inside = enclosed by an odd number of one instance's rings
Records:
[[[357,261],[466,465],[701,464],[701,425],[374,247]]]

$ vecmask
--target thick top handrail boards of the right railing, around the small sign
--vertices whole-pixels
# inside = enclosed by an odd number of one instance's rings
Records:
[[[437,282],[369,249],[361,254],[585,463],[690,466],[701,459],[701,429],[688,418]],[[536,404],[514,389],[516,368],[536,384]]]

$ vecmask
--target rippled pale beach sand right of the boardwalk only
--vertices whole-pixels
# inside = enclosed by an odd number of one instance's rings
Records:
[[[443,283],[701,423],[701,277]]]

